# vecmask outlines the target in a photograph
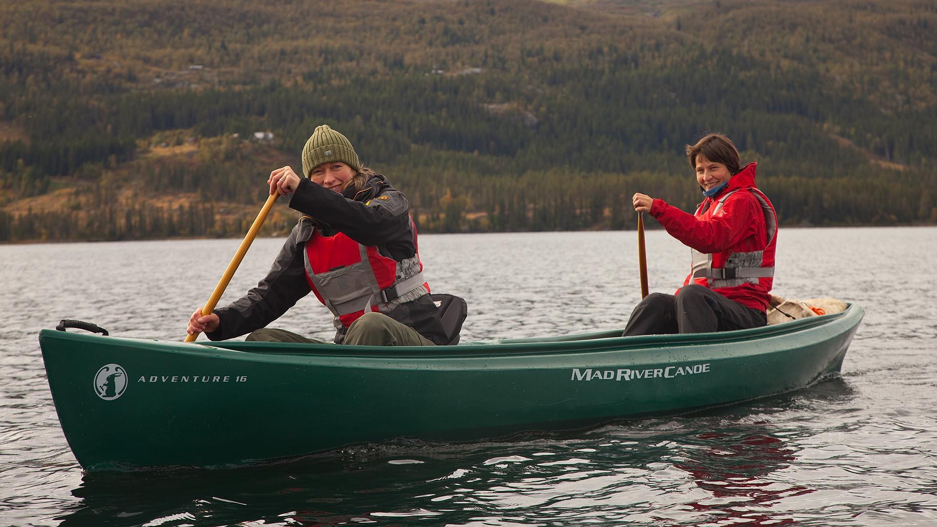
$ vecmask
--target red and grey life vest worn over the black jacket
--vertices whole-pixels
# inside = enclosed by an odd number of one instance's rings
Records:
[[[416,227],[413,245],[416,247]],[[418,249],[419,250],[419,249]],[[365,311],[388,313],[398,305],[429,294],[417,252],[396,262],[344,233],[323,236],[314,230],[305,242],[305,279],[319,301],[335,317],[339,334]]]

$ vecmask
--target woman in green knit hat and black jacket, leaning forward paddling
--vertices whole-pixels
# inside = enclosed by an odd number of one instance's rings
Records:
[[[407,198],[364,167],[348,138],[322,125],[303,148],[303,174],[270,173],[270,193],[289,196],[302,216],[257,287],[201,316],[188,332],[209,339],[317,342],[267,329],[300,298],[316,294],[334,316],[335,342],[364,345],[447,344],[417,253]]]

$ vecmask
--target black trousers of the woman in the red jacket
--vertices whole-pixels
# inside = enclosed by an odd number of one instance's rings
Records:
[[[766,324],[765,311],[748,308],[709,288],[692,284],[684,286],[677,295],[648,294],[632,311],[622,337],[710,333]]]

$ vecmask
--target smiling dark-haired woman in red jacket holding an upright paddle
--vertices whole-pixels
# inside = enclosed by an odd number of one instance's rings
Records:
[[[677,294],[648,294],[624,336],[706,333],[767,324],[778,218],[755,187],[755,166],[742,168],[738,149],[721,134],[687,145],[704,199],[696,214],[637,193],[634,210],[656,218],[692,249],[692,268]]]

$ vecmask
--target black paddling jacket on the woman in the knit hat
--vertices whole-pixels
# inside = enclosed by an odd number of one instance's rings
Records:
[[[380,196],[380,199],[376,199]],[[305,242],[316,229],[323,236],[344,233],[363,246],[375,247],[380,255],[404,262],[416,255],[416,233],[409,217],[407,198],[376,174],[364,188],[348,188],[339,194],[306,178],[293,193],[290,208],[304,215],[293,227],[276,255],[267,276],[242,298],[215,309],[220,319],[212,340],[232,339],[266,327],[312,292],[306,278]],[[396,305],[387,315],[407,324],[426,339],[445,344],[439,309],[428,294]],[[335,342],[345,339],[343,324],[336,319]]]

